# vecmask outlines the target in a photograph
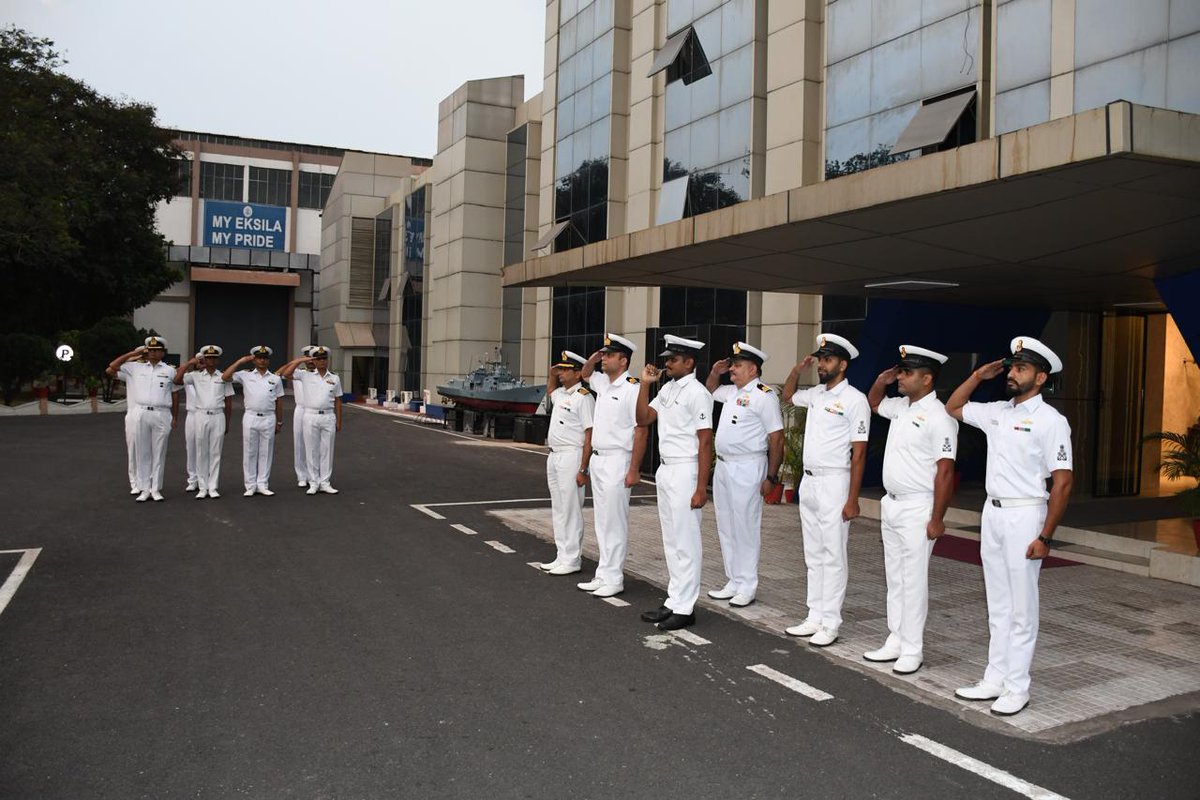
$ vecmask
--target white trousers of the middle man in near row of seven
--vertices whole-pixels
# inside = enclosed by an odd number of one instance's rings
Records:
[[[762,482],[767,456],[719,458],[713,474],[716,536],[728,588],[754,597],[758,593],[758,552],[762,549]]]

